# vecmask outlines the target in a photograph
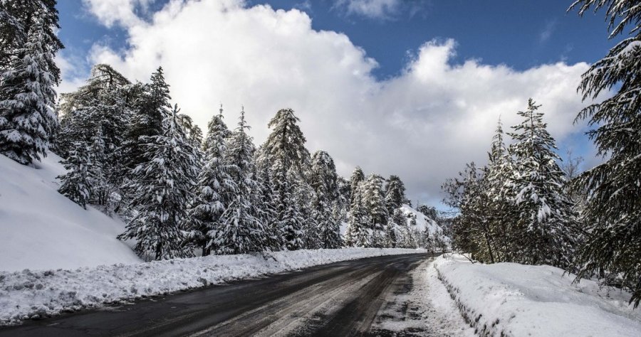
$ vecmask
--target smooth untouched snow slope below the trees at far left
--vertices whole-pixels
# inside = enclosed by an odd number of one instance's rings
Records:
[[[59,161],[49,154],[33,169],[0,155],[0,270],[140,262],[115,238],[124,231],[120,220],[58,193]]]

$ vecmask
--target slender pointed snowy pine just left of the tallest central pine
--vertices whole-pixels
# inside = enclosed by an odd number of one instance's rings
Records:
[[[219,254],[269,250],[269,233],[256,207],[261,200],[261,191],[254,176],[255,147],[246,129],[249,126],[242,109],[238,127],[229,137],[223,156],[236,194],[226,206],[222,226],[217,231],[216,247]]]

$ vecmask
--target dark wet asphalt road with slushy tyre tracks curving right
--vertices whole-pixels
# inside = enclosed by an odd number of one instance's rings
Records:
[[[372,257],[64,314],[0,336],[385,336],[386,299],[412,288],[427,255]],[[391,295],[391,296],[390,296]],[[421,334],[420,331],[407,335]]]

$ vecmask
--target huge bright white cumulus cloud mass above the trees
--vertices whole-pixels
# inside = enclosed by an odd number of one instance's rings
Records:
[[[453,40],[428,41],[402,74],[381,81],[365,50],[344,34],[313,30],[297,9],[171,1],[147,23],[116,13],[103,22],[125,26],[130,48],[95,45],[94,63],[110,63],[132,80],[147,80],[162,65],[174,102],[202,127],[220,102],[232,126],[244,105],[257,144],[273,114],[291,107],[308,147],[328,151],[343,176],[356,165],[398,174],[413,200],[438,201],[440,184],[465,162],[486,161],[499,115],[516,124],[528,97],[543,105],[557,139],[578,132],[575,90],[585,63],[524,71],[479,60],[455,64]]]

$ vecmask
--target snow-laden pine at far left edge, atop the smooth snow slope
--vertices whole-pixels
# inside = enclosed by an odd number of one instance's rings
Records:
[[[60,46],[57,38],[53,40],[48,34],[53,24],[48,21],[49,13],[34,10],[28,25],[21,21],[27,28],[26,41],[16,48],[16,56],[0,74],[0,154],[25,165],[46,156],[50,137],[58,127],[53,87],[58,84],[59,70],[53,59]],[[57,25],[57,12],[53,16]]]

